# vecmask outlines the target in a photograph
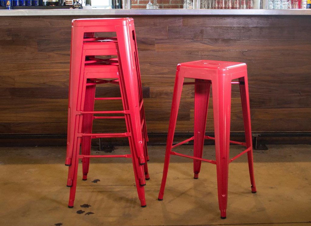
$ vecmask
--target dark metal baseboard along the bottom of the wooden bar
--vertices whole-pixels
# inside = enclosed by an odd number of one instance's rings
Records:
[[[207,136],[214,136],[207,133]],[[165,145],[166,133],[149,133],[149,145]],[[193,133],[175,133],[174,141],[182,141],[193,136]],[[232,132],[233,140],[244,141],[244,132]],[[206,140],[205,144],[213,144],[213,140]],[[0,134],[1,147],[25,146],[66,146],[67,134]],[[189,142],[193,144],[193,141]],[[266,144],[311,144],[311,132],[255,132],[253,133],[253,148],[267,149]],[[94,139],[92,145],[100,149],[115,145],[128,145],[128,139]],[[109,149],[109,148],[108,148]]]

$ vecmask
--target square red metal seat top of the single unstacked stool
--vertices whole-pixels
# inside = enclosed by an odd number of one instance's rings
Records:
[[[207,68],[207,69],[230,69],[237,67],[245,67],[245,63],[230,62],[230,61],[218,61],[218,60],[197,60],[178,64],[179,67],[191,67],[191,68]]]

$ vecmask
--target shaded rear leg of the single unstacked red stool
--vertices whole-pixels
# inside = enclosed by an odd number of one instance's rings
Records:
[[[211,84],[206,80],[195,79],[194,87],[194,157],[202,158],[204,136],[206,128],[207,107],[210,96]],[[193,160],[193,173],[194,179],[199,178],[199,172],[201,169],[200,160]]]

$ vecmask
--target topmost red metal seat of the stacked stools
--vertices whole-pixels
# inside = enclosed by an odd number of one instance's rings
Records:
[[[89,18],[73,19],[73,26],[127,26],[134,24],[133,18]]]

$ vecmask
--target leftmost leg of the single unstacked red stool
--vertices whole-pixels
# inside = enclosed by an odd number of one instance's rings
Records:
[[[174,92],[173,92],[171,114],[169,117],[169,130],[168,130],[167,140],[166,140],[166,151],[165,151],[163,176],[162,176],[162,182],[161,182],[158,200],[163,200],[167,172],[169,170],[169,159],[170,159],[170,154],[171,154],[170,152],[172,150],[181,91],[183,89],[183,78],[184,78],[183,76],[182,77],[180,76],[179,71],[177,71],[176,78],[175,78]]]

